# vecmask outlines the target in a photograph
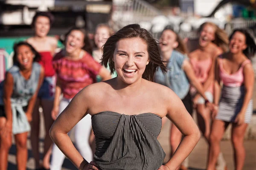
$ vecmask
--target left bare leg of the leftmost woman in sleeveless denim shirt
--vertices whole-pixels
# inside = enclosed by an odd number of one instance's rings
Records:
[[[0,129],[5,127],[6,118],[0,117]],[[12,146],[12,132],[3,135],[0,133],[0,170],[7,170],[8,153]]]

